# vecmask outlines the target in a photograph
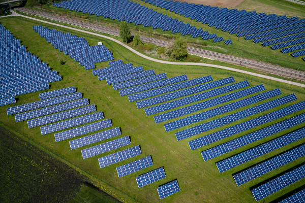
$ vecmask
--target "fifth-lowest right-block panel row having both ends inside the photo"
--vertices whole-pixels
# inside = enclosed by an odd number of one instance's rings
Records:
[[[212,88],[215,88],[215,87],[226,85],[226,84],[229,84],[229,83],[232,83],[232,82],[235,82],[233,77],[225,78],[225,79],[222,79],[222,80],[213,81],[213,82],[202,84],[202,85],[199,85],[199,86],[190,87],[190,88],[179,90],[179,91],[176,91],[176,92],[171,92],[171,93],[156,96],[156,97],[153,97],[153,98],[148,98],[148,99],[145,99],[145,100],[137,101],[136,104],[137,104],[138,109],[140,109],[140,108],[143,108],[143,107],[163,103],[164,101],[172,100],[172,99],[175,99],[175,98],[190,95],[190,94],[197,93],[197,92],[200,92],[200,91],[204,91],[204,90],[207,90],[207,89],[212,89]]]

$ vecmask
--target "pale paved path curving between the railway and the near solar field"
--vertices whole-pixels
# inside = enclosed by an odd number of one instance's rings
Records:
[[[77,28],[73,28],[73,27],[68,27],[68,26],[65,26],[65,25],[59,25],[59,24],[56,24],[56,23],[52,23],[52,22],[48,22],[48,21],[44,21],[44,20],[40,20],[40,19],[28,17],[28,16],[23,16],[23,15],[17,14],[14,11],[12,11],[12,14],[14,16],[21,16],[21,17],[24,17],[24,18],[28,18],[28,19],[32,19],[32,20],[35,20],[35,21],[43,22],[43,23],[46,23],[46,24],[51,24],[51,25],[55,25],[55,26],[58,26],[58,27],[64,27],[64,28],[67,28],[67,29],[71,29],[71,30],[87,33],[87,34],[98,36],[98,37],[101,37],[101,38],[106,38],[108,40],[111,40],[113,42],[116,42],[116,43],[120,44],[121,46],[124,46],[125,48],[129,49],[133,53],[135,53],[135,54],[137,54],[137,55],[139,55],[139,56],[141,56],[143,58],[146,58],[146,59],[151,60],[151,61],[159,62],[159,63],[173,64],[173,65],[199,65],[199,66],[216,67],[218,69],[225,69],[225,70],[229,70],[229,71],[233,71],[233,72],[238,72],[238,73],[243,73],[243,74],[248,74],[248,75],[252,75],[252,76],[257,76],[257,77],[260,77],[260,78],[265,78],[265,79],[269,79],[269,80],[273,80],[273,81],[283,82],[283,83],[286,83],[286,84],[291,84],[291,85],[295,85],[295,86],[299,86],[299,87],[305,87],[305,84],[300,84],[300,83],[291,82],[291,81],[287,81],[287,80],[283,80],[283,79],[279,79],[279,78],[274,78],[274,77],[265,76],[265,75],[261,75],[261,74],[257,74],[257,73],[252,73],[252,72],[249,72],[249,71],[233,69],[232,67],[226,67],[226,66],[222,66],[222,65],[214,65],[214,64],[207,64],[207,63],[193,63],[193,62],[163,61],[163,60],[151,58],[149,56],[145,56],[144,54],[141,54],[140,52],[134,50],[133,48],[127,46],[126,44],[124,44],[124,43],[122,43],[122,42],[120,42],[118,40],[115,40],[115,39],[113,39],[111,37],[103,36],[103,35],[100,35],[100,34],[97,34],[97,33],[93,33],[93,32],[90,32],[90,31],[86,31],[86,30],[81,30],[81,29],[77,29]]]

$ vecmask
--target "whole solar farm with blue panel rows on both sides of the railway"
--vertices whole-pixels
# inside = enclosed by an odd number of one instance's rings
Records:
[[[305,21],[297,17],[145,2],[305,55]],[[99,3],[54,6],[233,43],[131,1]],[[110,40],[34,20],[3,18],[0,39],[1,125],[119,201],[305,201],[304,88],[149,61]]]

